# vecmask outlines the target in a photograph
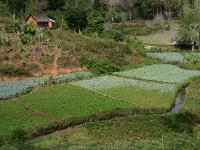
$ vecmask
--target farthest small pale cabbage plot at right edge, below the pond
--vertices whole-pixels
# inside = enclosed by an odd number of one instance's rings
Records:
[[[166,53],[147,53],[152,58],[160,59],[164,62],[179,62],[187,63],[188,57],[197,57],[200,61],[200,53],[178,53],[178,52],[166,52]]]

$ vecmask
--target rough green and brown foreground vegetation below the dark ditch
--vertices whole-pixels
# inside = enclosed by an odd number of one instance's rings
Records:
[[[182,127],[185,132],[173,130],[167,124],[169,118],[186,120]],[[199,139],[196,132],[187,132],[188,123],[184,115],[130,116],[85,123],[30,143],[45,149],[195,149],[200,144]]]

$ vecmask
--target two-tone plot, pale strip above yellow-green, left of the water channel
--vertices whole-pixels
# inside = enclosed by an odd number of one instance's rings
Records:
[[[117,76],[103,76],[72,84],[146,108],[169,109],[174,103],[177,91],[176,84],[140,81]]]

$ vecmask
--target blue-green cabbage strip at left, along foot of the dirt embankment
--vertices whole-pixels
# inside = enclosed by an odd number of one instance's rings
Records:
[[[14,82],[0,82],[0,99],[7,99],[15,95],[21,94],[24,91],[30,90],[36,85],[45,85],[47,82],[60,83],[75,79],[90,77],[90,72],[76,72],[55,77],[32,77],[25,80]]]

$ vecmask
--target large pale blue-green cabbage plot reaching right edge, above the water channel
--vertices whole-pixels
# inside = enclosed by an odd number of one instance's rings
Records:
[[[139,69],[116,72],[114,75],[166,83],[183,84],[186,80],[192,77],[200,76],[200,71],[185,70],[169,64],[154,64]]]

